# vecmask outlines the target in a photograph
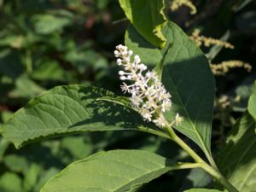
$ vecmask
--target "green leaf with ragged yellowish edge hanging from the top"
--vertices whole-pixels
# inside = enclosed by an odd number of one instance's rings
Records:
[[[119,3],[143,38],[157,47],[164,47],[166,38],[161,32],[167,22],[164,0],[119,0]]]

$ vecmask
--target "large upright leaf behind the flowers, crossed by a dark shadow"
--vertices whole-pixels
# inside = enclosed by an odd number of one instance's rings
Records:
[[[174,23],[163,29],[167,38],[164,49],[150,46],[130,27],[125,44],[147,64],[163,68],[162,81],[172,94],[172,110],[166,118],[172,121],[180,113],[184,121],[177,131],[191,138],[207,154],[210,153],[214,79],[207,58],[189,37]],[[152,62],[154,61],[154,63]]]

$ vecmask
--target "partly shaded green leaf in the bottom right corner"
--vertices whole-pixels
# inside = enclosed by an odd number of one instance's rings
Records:
[[[230,131],[226,146],[218,156],[219,170],[238,191],[252,192],[256,186],[256,122],[249,113]]]

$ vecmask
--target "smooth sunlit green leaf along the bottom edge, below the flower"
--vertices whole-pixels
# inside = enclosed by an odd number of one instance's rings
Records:
[[[67,166],[41,192],[131,191],[174,169],[172,160],[142,150],[100,152]]]

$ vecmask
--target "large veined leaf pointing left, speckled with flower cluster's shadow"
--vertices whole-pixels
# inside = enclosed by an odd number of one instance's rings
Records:
[[[59,86],[21,108],[2,126],[3,137],[26,143],[83,131],[145,130],[142,118],[124,106],[96,101],[113,93],[81,85]]]

